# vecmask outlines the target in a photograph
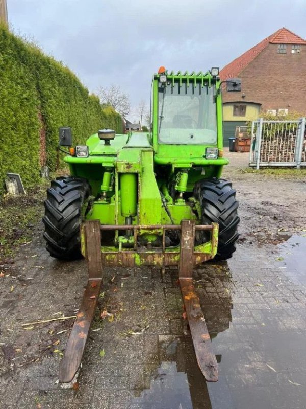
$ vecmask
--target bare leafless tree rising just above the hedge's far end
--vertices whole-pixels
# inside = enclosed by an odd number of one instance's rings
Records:
[[[112,106],[121,117],[126,117],[131,111],[129,95],[119,85],[112,84],[109,88],[99,90],[101,104]]]

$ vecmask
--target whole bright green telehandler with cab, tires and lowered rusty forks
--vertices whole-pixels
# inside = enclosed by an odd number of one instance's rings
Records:
[[[226,82],[240,91],[239,79]],[[81,363],[102,285],[103,266],[179,267],[179,282],[198,365],[218,379],[205,318],[192,281],[195,265],[232,257],[238,202],[221,178],[222,82],[219,69],[168,73],[151,86],[149,133],[115,135],[101,129],[72,147],[60,128],[70,176],[53,180],[45,200],[44,238],[52,257],[88,260],[88,283],[73,324],[59,380],[70,382]],[[62,148],[60,148],[63,150]]]

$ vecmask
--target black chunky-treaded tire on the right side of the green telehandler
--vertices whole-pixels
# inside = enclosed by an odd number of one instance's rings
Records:
[[[236,190],[228,180],[203,179],[196,184],[194,195],[200,201],[201,223],[219,224],[218,250],[214,260],[230,259],[236,250],[236,241],[239,237]],[[209,240],[209,233],[201,232],[199,241],[207,240]]]

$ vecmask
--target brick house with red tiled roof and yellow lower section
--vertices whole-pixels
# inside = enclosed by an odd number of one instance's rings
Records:
[[[223,89],[224,146],[236,126],[260,111],[306,113],[306,41],[285,27],[259,42],[220,71],[221,80],[241,78],[241,92]]]

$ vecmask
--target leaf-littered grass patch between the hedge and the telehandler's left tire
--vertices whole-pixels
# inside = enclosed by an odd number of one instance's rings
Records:
[[[28,189],[27,194],[0,197],[0,263],[11,263],[21,244],[31,241],[43,215],[48,180]]]

